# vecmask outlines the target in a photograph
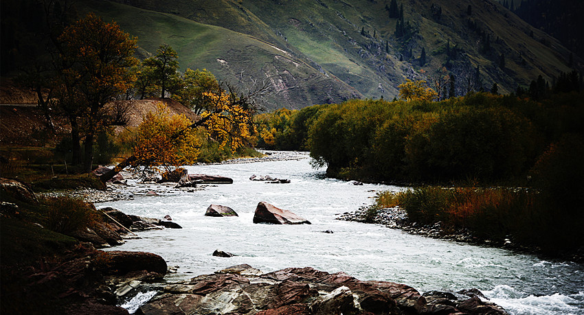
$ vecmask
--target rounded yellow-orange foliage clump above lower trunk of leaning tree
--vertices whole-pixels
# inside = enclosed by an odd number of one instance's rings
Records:
[[[185,115],[170,115],[164,104],[157,104],[138,126],[135,135],[132,166],[145,165],[159,169],[188,165],[199,156],[201,141],[196,130],[188,128],[192,122]]]

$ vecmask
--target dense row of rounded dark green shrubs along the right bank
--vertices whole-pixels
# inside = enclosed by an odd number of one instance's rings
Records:
[[[581,121],[579,93],[349,100],[256,117],[260,147],[310,150],[328,176],[401,183],[521,183],[550,143],[583,134]]]

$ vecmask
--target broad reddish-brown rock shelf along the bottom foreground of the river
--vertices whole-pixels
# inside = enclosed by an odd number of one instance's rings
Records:
[[[423,296],[408,285],[313,268],[262,274],[244,264],[154,290],[137,314],[507,314],[478,290]]]

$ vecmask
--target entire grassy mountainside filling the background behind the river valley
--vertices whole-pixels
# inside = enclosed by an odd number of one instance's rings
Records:
[[[469,80],[476,81],[477,67],[480,80],[474,89],[488,90],[496,82],[499,92],[508,93],[537,75],[552,82],[570,70],[568,49],[488,0],[398,1],[404,20],[417,30],[409,38],[394,35],[398,19],[389,17],[390,1],[123,3],[129,5],[80,4],[82,10],[118,21],[139,36],[147,51],[160,43],[172,45],[182,68],[206,68],[231,82],[269,78],[276,92],[269,107],[299,108],[361,96],[391,99],[406,78],[432,81],[447,74],[456,77],[456,92],[462,95]],[[449,48],[456,56],[447,56]]]

